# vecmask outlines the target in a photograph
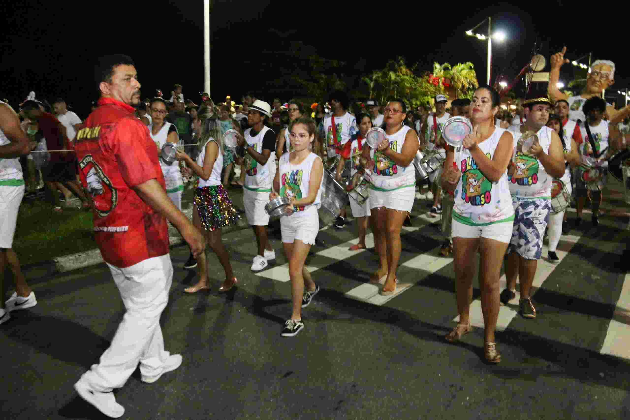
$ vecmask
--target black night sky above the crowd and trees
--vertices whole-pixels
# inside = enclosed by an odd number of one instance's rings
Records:
[[[246,91],[265,93],[265,81],[278,77],[274,62],[292,65],[281,53],[295,41],[314,46],[323,57],[347,62],[347,74],[382,68],[402,55],[408,64],[419,62],[426,70],[433,61],[471,61],[483,82],[486,42],[466,37],[464,31],[488,15],[494,30],[507,33],[505,42],[493,42],[493,75],[512,79],[538,40],[547,58],[567,45],[569,59],[593,52],[593,60],[615,61],[616,84],[610,93],[630,85],[630,64],[622,52],[627,51],[627,29],[610,20],[613,9],[591,3],[583,11],[573,2],[528,2],[522,8],[496,3],[483,9],[455,4],[459,2],[214,1],[211,96],[222,101],[230,94],[239,103]],[[33,90],[38,98],[65,98],[84,118],[89,102],[98,98],[94,59],[112,53],[134,59],[143,98],[154,96],[157,88],[168,98],[172,85],[180,83],[185,98],[198,103],[203,90],[201,1],[110,1],[83,3],[81,8],[74,2],[3,2],[0,15],[6,33],[0,97],[13,106]],[[575,25],[578,21],[583,25]],[[486,28],[484,24],[477,31],[487,33]],[[561,79],[573,79],[572,71],[573,65],[565,65]],[[261,98],[271,101],[274,96]],[[292,93],[284,96],[287,101]]]

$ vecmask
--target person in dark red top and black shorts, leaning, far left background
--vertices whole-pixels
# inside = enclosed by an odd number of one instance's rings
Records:
[[[46,139],[48,150],[64,150],[69,146],[66,141],[66,127],[51,113],[42,111],[36,101],[26,101],[20,106],[26,118],[37,121],[39,129]],[[66,185],[83,201],[84,207],[89,207],[88,200],[76,180],[76,163],[74,152],[50,152],[50,162],[43,170],[43,181],[52,194],[52,205],[56,212],[61,211],[59,206],[60,185]]]

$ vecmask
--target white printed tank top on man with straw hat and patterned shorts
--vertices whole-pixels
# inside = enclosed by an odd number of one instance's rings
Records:
[[[508,128],[508,130],[512,132],[514,147],[516,147],[518,139],[522,136],[520,127],[522,126],[510,126],[510,128]],[[536,133],[538,142],[541,144],[542,150],[546,154],[549,154],[551,133],[553,133],[553,128],[549,128],[546,125],[543,125]],[[515,173],[513,176],[508,176],[508,181],[510,181],[510,193],[512,193],[513,196],[517,198],[551,198],[553,176],[547,174],[541,161],[534,156],[517,154],[515,164]]]

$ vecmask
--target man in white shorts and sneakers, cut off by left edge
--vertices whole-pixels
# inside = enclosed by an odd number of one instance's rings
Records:
[[[15,292],[4,307],[0,300],[0,324],[8,321],[9,312],[26,309],[37,304],[35,293],[26,284],[20,270],[20,260],[13,251],[13,235],[18,220],[18,210],[24,196],[24,178],[19,157],[28,154],[28,137],[20,128],[20,118],[8,104],[0,101],[0,290],[7,264],[13,272]]]

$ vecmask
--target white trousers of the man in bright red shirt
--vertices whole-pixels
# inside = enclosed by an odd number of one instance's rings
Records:
[[[83,380],[100,392],[125,385],[138,363],[142,376],[159,375],[170,356],[164,351],[159,317],[173,282],[171,256],[145,259],[125,268],[107,265],[127,312],[98,365],[83,374]]]

